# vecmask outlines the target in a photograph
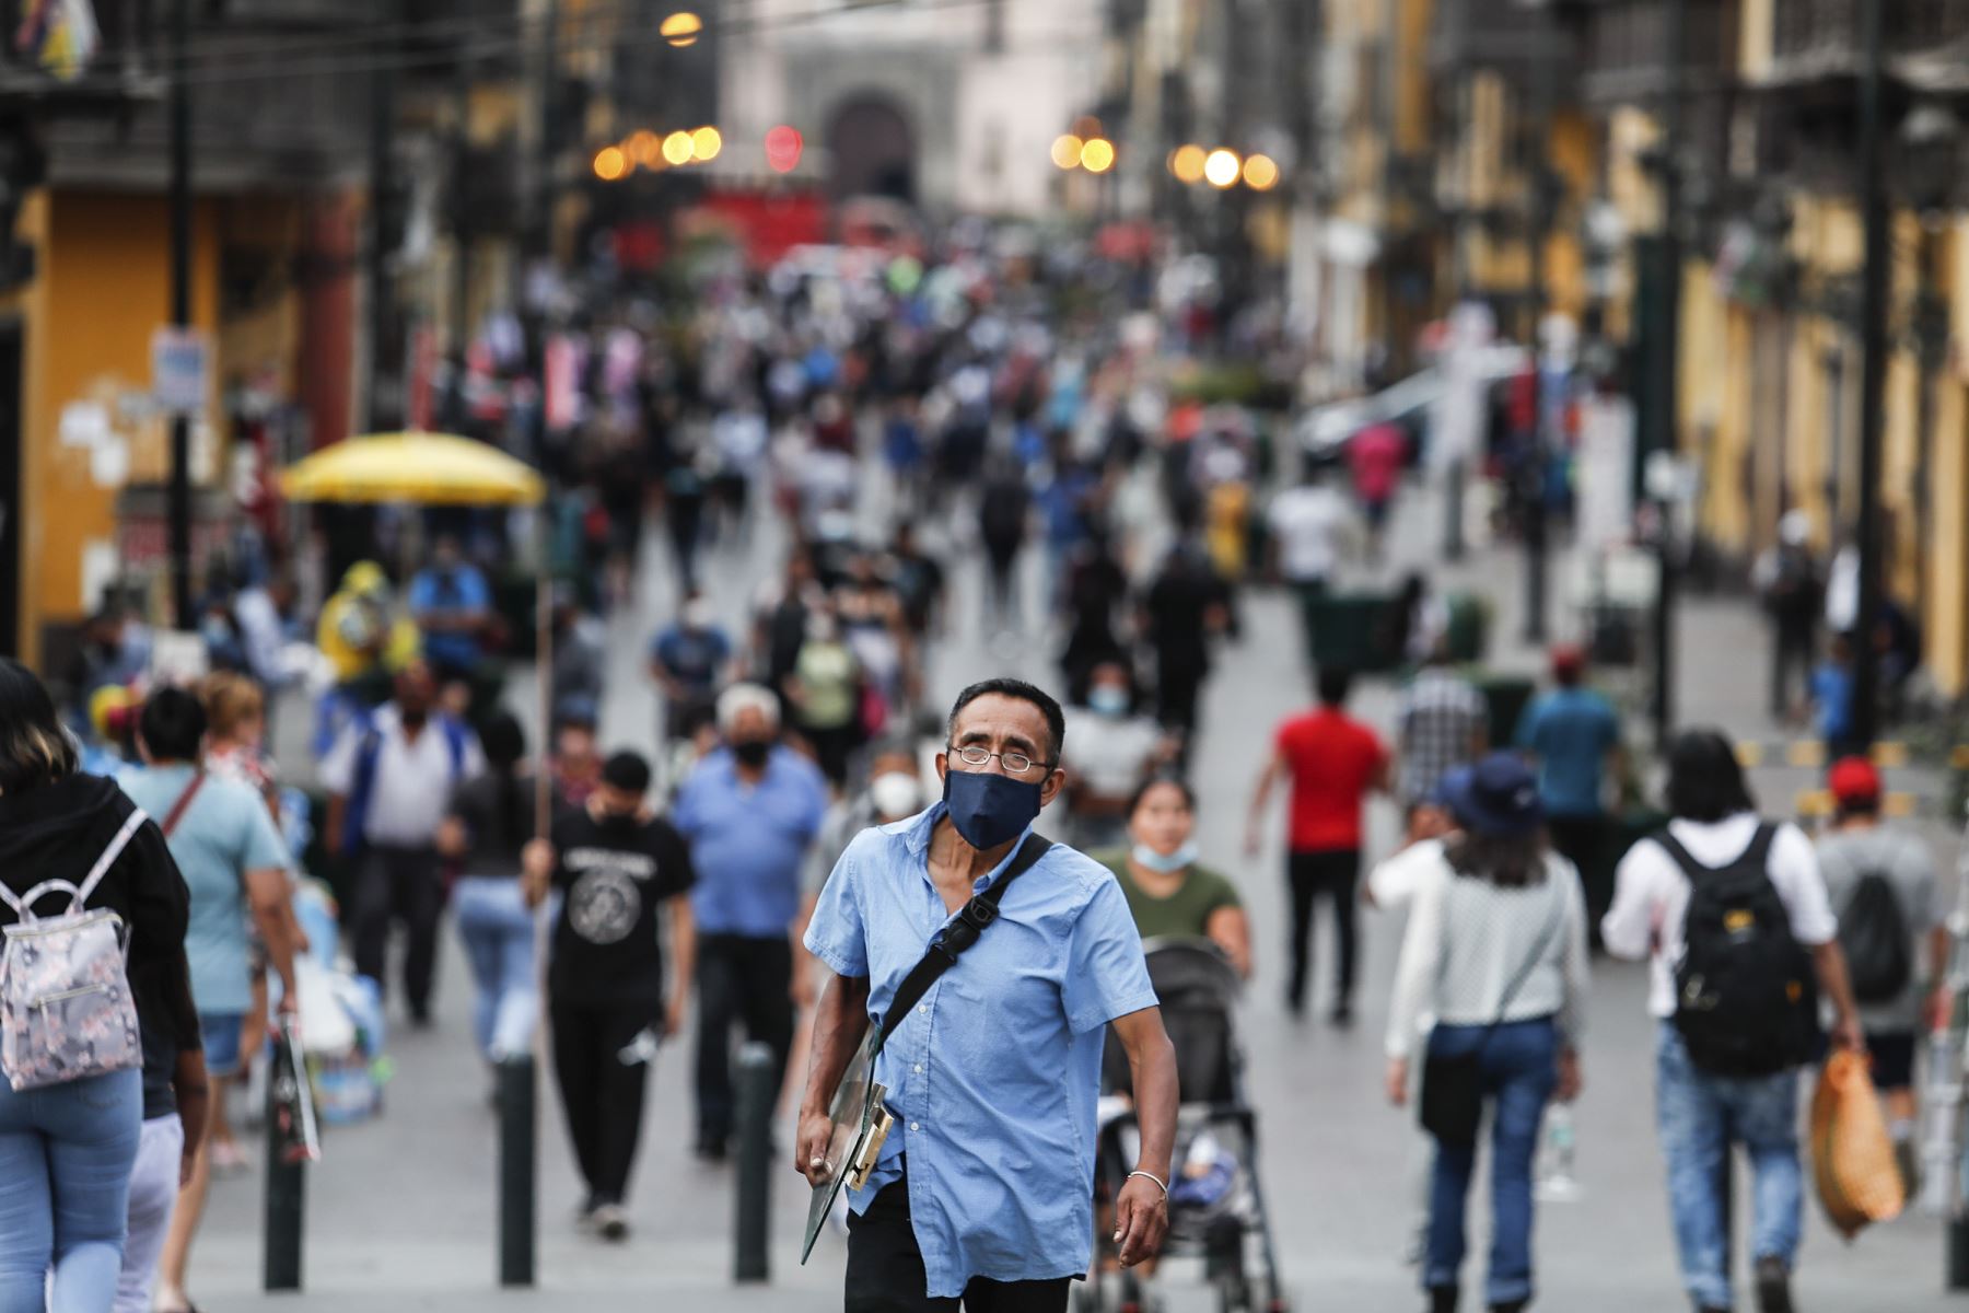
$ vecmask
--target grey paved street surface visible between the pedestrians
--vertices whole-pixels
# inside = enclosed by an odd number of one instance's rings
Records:
[[[1396,561],[1426,561],[1437,541],[1435,504],[1412,492],[1396,531]],[[654,535],[652,535],[654,537]],[[744,553],[719,553],[713,596],[736,618],[756,581],[778,559],[774,531],[750,537]],[[656,551],[652,547],[652,551]],[[959,559],[965,559],[959,555]],[[1030,563],[1038,575],[1040,563]],[[1479,549],[1439,577],[1483,587],[1496,602],[1493,624],[1500,665],[1532,671],[1536,654],[1516,646],[1518,563],[1514,553]],[[988,671],[1051,681],[1051,644],[1038,636],[1018,650],[990,650],[975,632],[979,571],[957,571],[957,640],[933,665],[933,689],[947,697]],[[1038,579],[1034,579],[1038,583]],[[1036,596],[1038,591],[1028,591]],[[644,644],[667,614],[667,565],[652,555],[636,614],[614,628],[614,687],[604,738],[648,746],[654,703],[642,677]],[[1280,1002],[1284,882],[1278,835],[1256,862],[1239,848],[1246,791],[1270,726],[1305,699],[1300,636],[1286,598],[1252,593],[1246,634],[1231,648],[1207,693],[1205,734],[1195,782],[1201,793],[1203,858],[1235,872],[1258,935],[1258,978],[1242,1014],[1250,1087],[1260,1110],[1262,1169],[1272,1222],[1294,1307],[1402,1313],[1420,1307],[1412,1270],[1398,1252],[1412,1217],[1410,1159],[1416,1132],[1408,1114],[1380,1096],[1380,1028],[1398,923],[1370,917],[1361,1022],[1335,1032],[1323,1022],[1294,1024]],[[1760,711],[1762,630],[1745,602],[1691,600],[1682,626],[1683,719],[1713,719],[1745,734],[1766,734]],[[1370,685],[1359,709],[1388,724],[1394,691]],[[1788,805],[1798,780],[1760,774],[1770,803]],[[1376,805],[1376,850],[1394,837],[1392,807]],[[449,945],[447,945],[449,949]],[[1321,945],[1325,949],[1325,945]],[[1331,961],[1323,959],[1321,965]],[[827,1238],[809,1270],[797,1268],[805,1189],[790,1171],[774,1187],[774,1282],[768,1289],[729,1285],[732,1195],[727,1169],[697,1165],[687,1154],[689,1091],[685,1051],[658,1061],[652,1116],[632,1201],[634,1238],[604,1248],[571,1224],[575,1177],[547,1093],[541,1118],[541,1287],[494,1289],[494,1116],[486,1079],[471,1051],[469,990],[461,957],[445,959],[435,1032],[394,1037],[398,1063],[388,1112],[368,1126],[331,1134],[327,1159],[311,1173],[307,1222],[307,1307],[412,1309],[827,1309],[839,1307],[843,1246]],[[1319,976],[1325,982],[1325,976]],[[1644,976],[1636,967],[1595,969],[1587,1093],[1579,1104],[1579,1175],[1585,1197],[1546,1207],[1540,1217],[1540,1307],[1561,1313],[1656,1313],[1680,1309],[1662,1173],[1652,1132],[1652,1024],[1642,1014]],[[1323,1016],[1315,1008],[1311,1016]],[[258,1295],[258,1177],[222,1183],[193,1268],[193,1291],[209,1309],[286,1307]],[[1483,1220],[1473,1248],[1481,1254]],[[1813,1207],[1798,1278],[1808,1313],[1916,1313],[1959,1307],[1941,1293],[1941,1230],[1906,1219],[1865,1234],[1855,1246],[1833,1238]],[[1475,1264],[1467,1278],[1481,1278]],[[1205,1295],[1170,1285],[1172,1309],[1203,1309]]]

